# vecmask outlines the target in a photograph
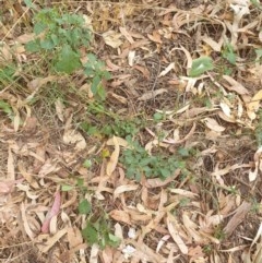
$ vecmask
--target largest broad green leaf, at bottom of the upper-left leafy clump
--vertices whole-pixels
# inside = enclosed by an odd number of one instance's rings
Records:
[[[64,46],[59,55],[58,62],[55,64],[56,70],[70,74],[80,67],[80,56],[70,46]]]

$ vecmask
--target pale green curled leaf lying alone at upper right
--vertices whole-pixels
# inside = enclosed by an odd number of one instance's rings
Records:
[[[192,62],[192,68],[189,71],[189,76],[200,76],[207,70],[213,70],[213,60],[210,57],[200,57]]]

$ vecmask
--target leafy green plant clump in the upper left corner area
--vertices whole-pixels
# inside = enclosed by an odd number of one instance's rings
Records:
[[[34,33],[36,39],[26,45],[27,51],[39,52],[55,72],[72,74],[83,70],[91,80],[94,95],[105,98],[103,79],[110,79],[105,63],[88,52],[87,62],[82,64],[80,48],[90,48],[92,32],[85,21],[78,14],[60,14],[56,9],[44,9],[35,15]]]

